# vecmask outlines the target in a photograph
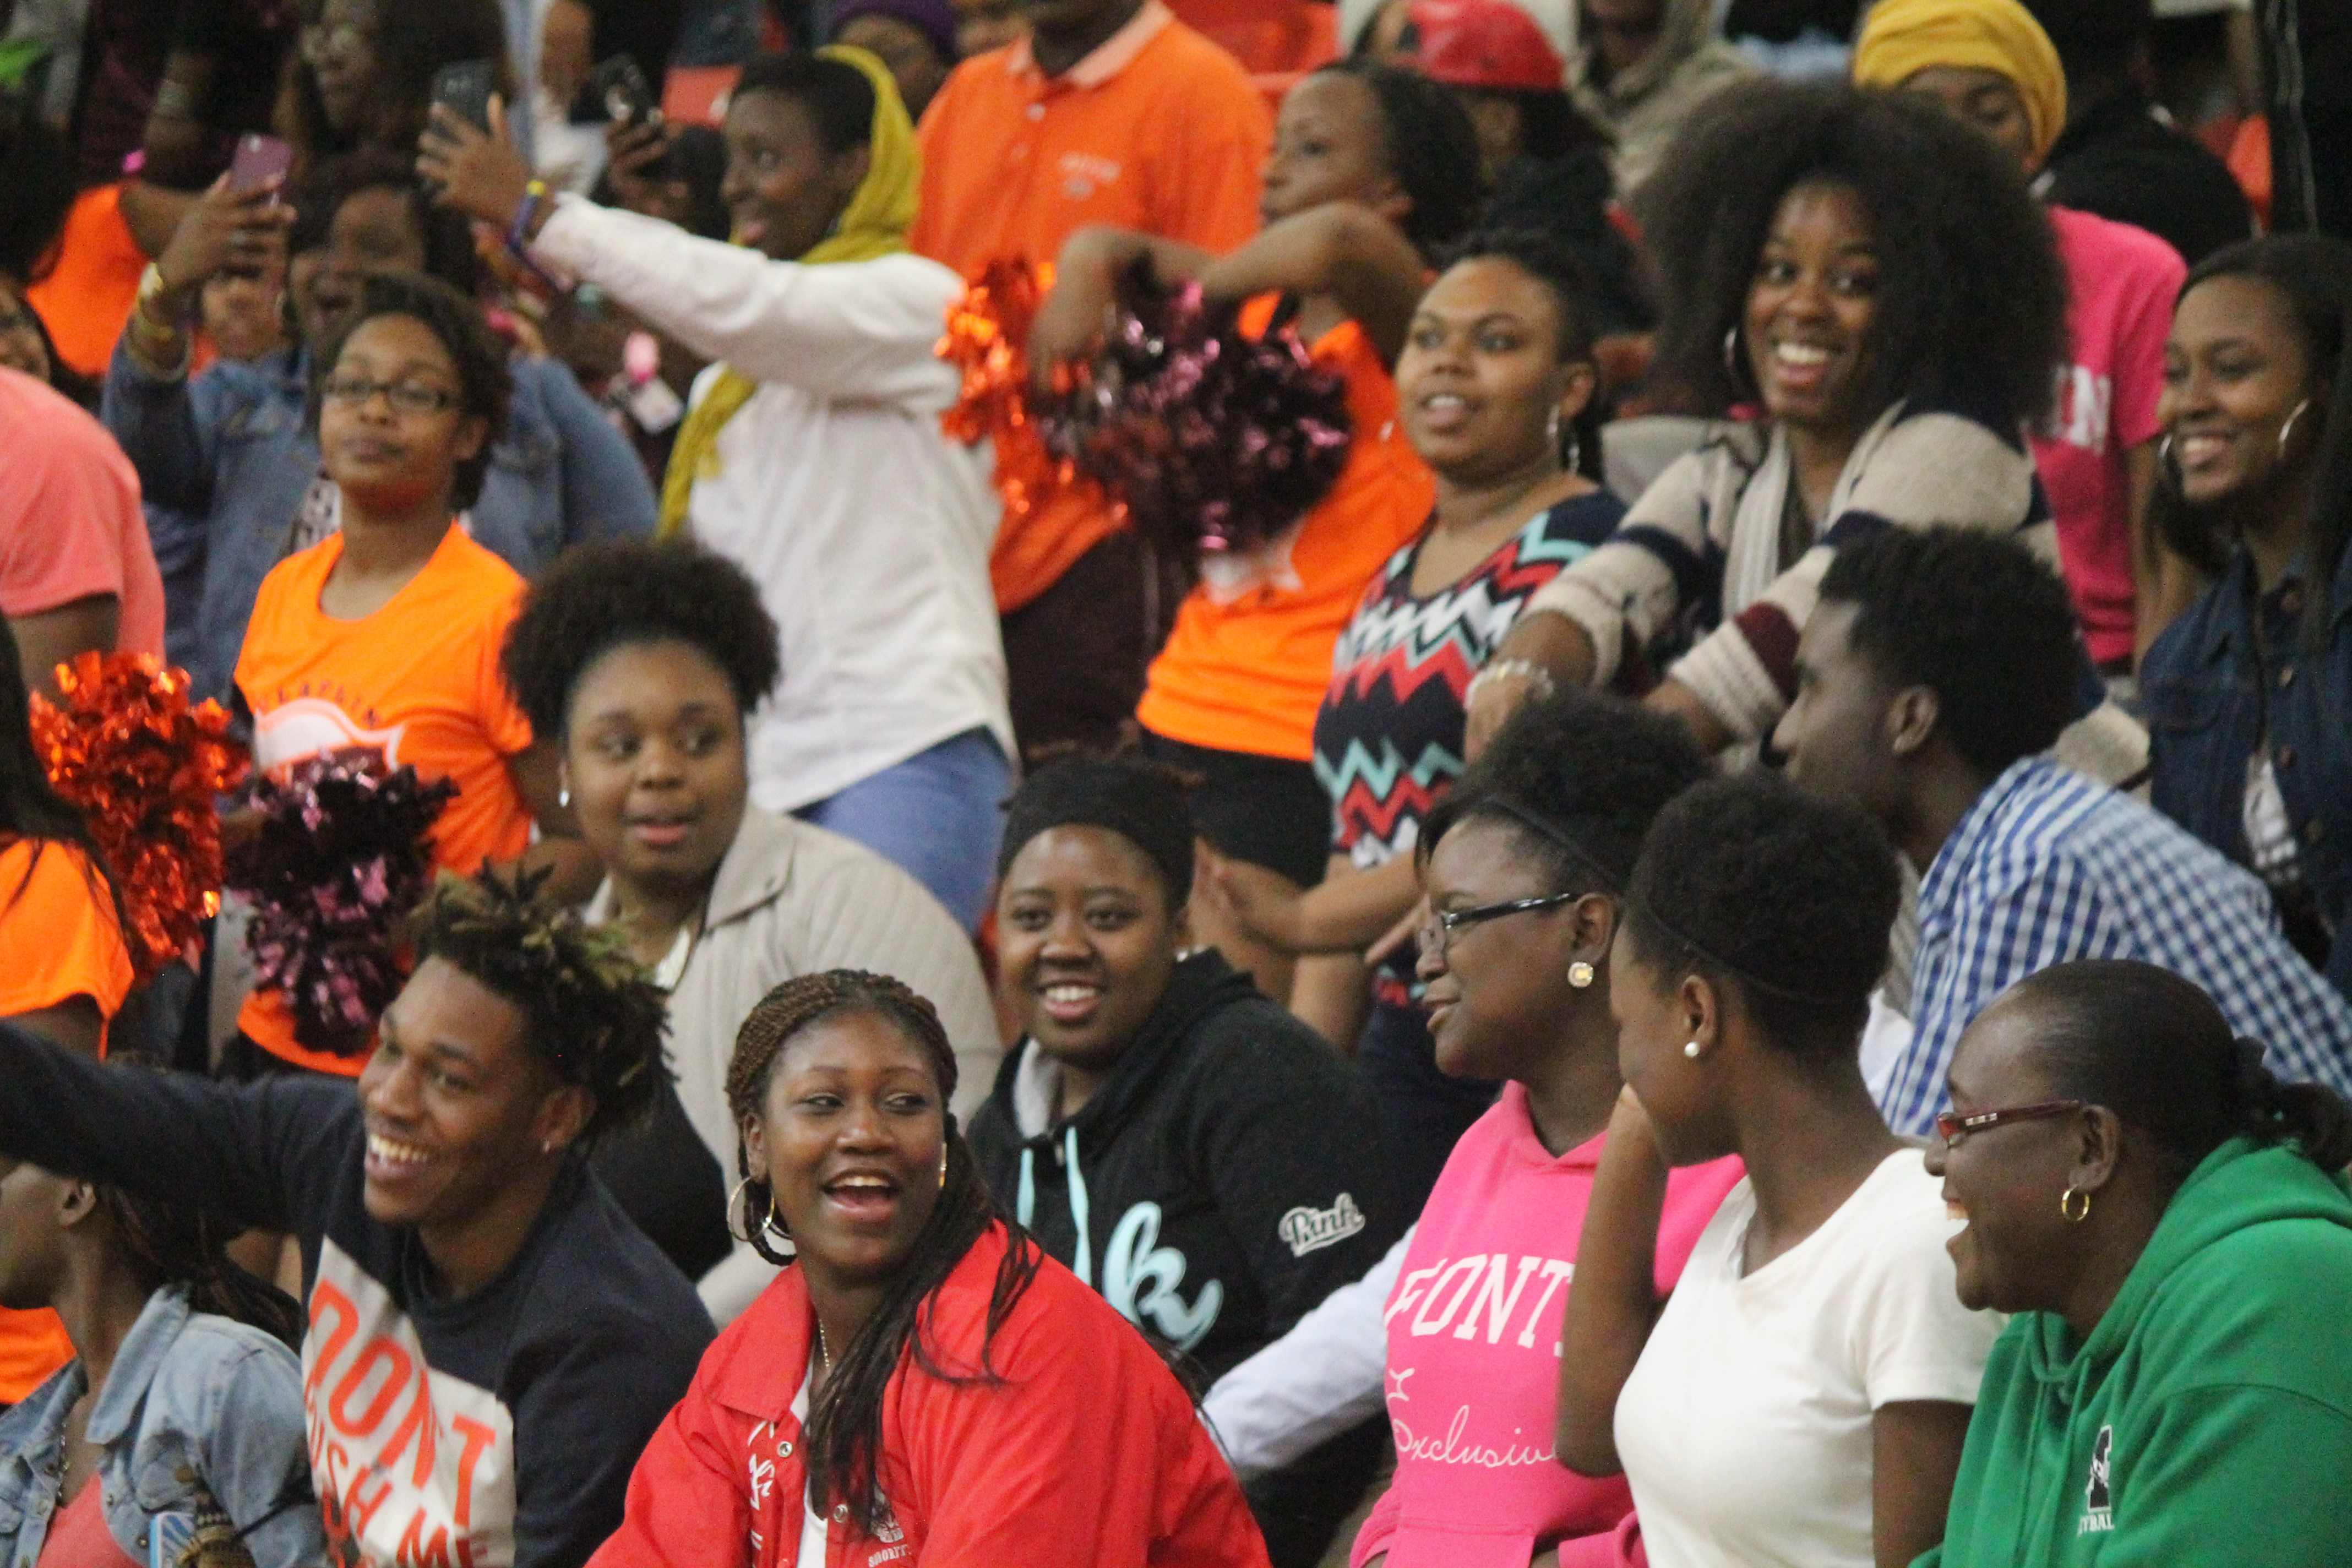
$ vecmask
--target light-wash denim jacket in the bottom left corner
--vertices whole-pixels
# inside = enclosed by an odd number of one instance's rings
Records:
[[[66,1415],[82,1399],[73,1361],[0,1415],[0,1568],[33,1568],[59,1509]],[[106,1450],[106,1528],[148,1561],[160,1514],[195,1514],[195,1481],[247,1530],[256,1568],[315,1568],[327,1556],[303,1439],[301,1361],[261,1333],[191,1312],[183,1286],[148,1298],[89,1408]]]

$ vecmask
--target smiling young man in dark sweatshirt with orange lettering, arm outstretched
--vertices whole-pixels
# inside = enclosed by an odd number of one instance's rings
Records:
[[[576,1563],[710,1342],[583,1159],[654,1098],[661,992],[489,875],[445,877],[414,943],[358,1086],[118,1072],[0,1027],[0,1154],[301,1241],[334,1561]]]

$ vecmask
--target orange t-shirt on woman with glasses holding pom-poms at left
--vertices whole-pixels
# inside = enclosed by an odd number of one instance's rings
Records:
[[[254,712],[254,766],[372,748],[388,766],[414,762],[421,778],[449,778],[459,795],[433,827],[433,867],[473,872],[520,856],[532,809],[508,759],[532,745],[499,649],[522,599],[522,578],[449,527],[426,569],[393,602],[360,621],[318,607],[343,557],[336,534],[278,562],[261,581],[238,656],[238,691]],[[358,1077],[362,1056],[294,1044],[294,1016],[275,992],[254,992],[238,1027],[263,1051],[301,1067]]]

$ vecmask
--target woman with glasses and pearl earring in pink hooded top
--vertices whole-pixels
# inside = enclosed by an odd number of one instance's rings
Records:
[[[1621,1088],[1609,1013],[1618,898],[1656,811],[1705,776],[1670,719],[1588,693],[1519,712],[1423,835],[1421,980],[1439,1070],[1508,1079],[1454,1145],[1388,1295],[1397,1479],[1352,1568],[1621,1563],[1623,1476],[1552,1453],[1559,1319]],[[1677,1171],[1658,1291],[1740,1178]]]

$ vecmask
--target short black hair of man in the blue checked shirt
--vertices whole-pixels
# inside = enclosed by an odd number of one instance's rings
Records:
[[[1858,609],[1849,637],[1879,675],[1936,691],[1938,733],[1987,778],[2084,710],[2074,602],[2016,538],[1884,527],[1837,552],[1820,599]]]

